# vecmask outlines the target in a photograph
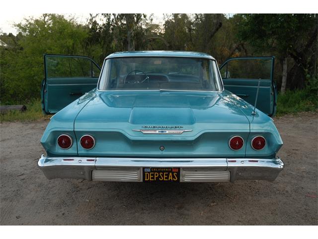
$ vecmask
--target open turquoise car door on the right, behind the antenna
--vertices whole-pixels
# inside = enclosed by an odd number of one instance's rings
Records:
[[[220,72],[225,89],[253,106],[260,80],[256,108],[268,116],[275,115],[277,88],[273,81],[274,57],[230,58],[220,66]]]

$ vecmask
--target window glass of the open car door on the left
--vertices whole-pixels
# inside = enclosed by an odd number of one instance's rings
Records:
[[[84,57],[47,56],[48,78],[98,77],[100,70],[93,62]]]

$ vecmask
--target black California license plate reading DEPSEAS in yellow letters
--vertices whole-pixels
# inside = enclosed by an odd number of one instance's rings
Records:
[[[180,182],[180,168],[143,168],[144,182]]]

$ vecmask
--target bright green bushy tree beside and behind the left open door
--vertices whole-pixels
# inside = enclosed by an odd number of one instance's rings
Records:
[[[39,18],[25,19],[25,23],[15,26],[19,31],[18,35],[11,37],[12,42],[8,41],[10,47],[0,49],[1,104],[24,103],[40,97],[44,53],[91,53],[83,45],[88,30],[74,19],[43,14]],[[2,35],[1,39],[4,37]]]

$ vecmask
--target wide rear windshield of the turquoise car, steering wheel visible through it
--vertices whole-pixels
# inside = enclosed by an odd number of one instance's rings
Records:
[[[99,90],[221,91],[216,62],[185,57],[122,57],[105,61]]]

